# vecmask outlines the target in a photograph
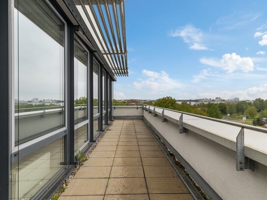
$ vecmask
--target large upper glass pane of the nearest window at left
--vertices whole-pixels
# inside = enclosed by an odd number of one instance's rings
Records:
[[[64,29],[46,1],[15,1],[15,144],[65,127]]]

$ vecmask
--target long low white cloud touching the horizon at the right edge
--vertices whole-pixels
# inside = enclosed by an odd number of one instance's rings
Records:
[[[223,99],[231,99],[234,97],[239,97],[240,100],[246,99],[256,99],[256,98],[263,98],[267,99],[267,83],[263,84],[259,87],[250,87],[246,90],[237,90],[237,91],[215,91],[215,92],[203,92],[198,93],[200,98],[214,98],[215,96],[220,96]]]

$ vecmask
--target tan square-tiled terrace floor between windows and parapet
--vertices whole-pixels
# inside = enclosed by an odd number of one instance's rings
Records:
[[[59,200],[193,200],[140,119],[117,119]]]

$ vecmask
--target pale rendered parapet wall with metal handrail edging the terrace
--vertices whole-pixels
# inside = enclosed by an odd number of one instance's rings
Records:
[[[267,197],[266,128],[145,104],[113,109],[143,118],[212,199]]]

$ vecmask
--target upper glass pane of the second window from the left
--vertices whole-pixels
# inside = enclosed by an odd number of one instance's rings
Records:
[[[74,96],[75,96],[75,123],[88,119],[87,110],[87,74],[88,52],[74,40]]]

